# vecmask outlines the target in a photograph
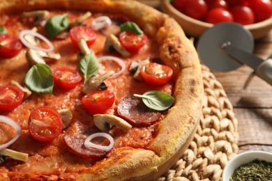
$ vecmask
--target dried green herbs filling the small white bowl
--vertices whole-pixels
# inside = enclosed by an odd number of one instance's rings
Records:
[[[248,164],[243,164],[234,171],[231,181],[271,181],[272,163],[255,159]]]

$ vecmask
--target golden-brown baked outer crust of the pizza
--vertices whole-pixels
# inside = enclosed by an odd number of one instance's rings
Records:
[[[156,173],[174,155],[182,155],[195,133],[202,109],[203,84],[199,58],[192,42],[171,17],[137,1],[5,0],[1,13],[27,10],[89,10],[123,13],[156,39],[160,58],[174,70],[175,102],[160,121],[148,150],[123,150],[84,171],[78,180],[130,180]],[[186,147],[184,147],[186,145]],[[174,162],[173,162],[174,163]],[[167,164],[169,165],[169,163]]]

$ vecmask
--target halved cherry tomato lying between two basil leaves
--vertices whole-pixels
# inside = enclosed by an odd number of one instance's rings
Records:
[[[55,68],[52,71],[52,75],[54,78],[54,84],[63,89],[75,88],[75,86],[80,84],[80,81],[82,80],[82,77],[77,70],[66,67]]]

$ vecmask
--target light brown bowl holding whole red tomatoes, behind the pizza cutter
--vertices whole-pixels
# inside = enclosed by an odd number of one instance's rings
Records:
[[[163,12],[176,19],[176,22],[181,25],[183,31],[190,36],[199,38],[199,36],[201,36],[206,29],[213,26],[211,23],[202,22],[184,15],[183,13],[179,12],[179,10],[176,10],[176,8],[169,3],[169,0],[160,0],[160,5]],[[253,38],[262,38],[272,29],[272,17],[262,22],[245,25],[244,27],[252,33]]]

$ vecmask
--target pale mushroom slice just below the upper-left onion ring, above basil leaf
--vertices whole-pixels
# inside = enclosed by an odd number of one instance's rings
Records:
[[[55,54],[52,52],[42,52],[42,51],[33,50],[33,49],[27,50],[26,56],[27,56],[27,61],[29,61],[31,65],[34,65],[36,63],[46,64],[44,58],[50,58],[54,60],[59,60],[61,58],[60,54]]]

